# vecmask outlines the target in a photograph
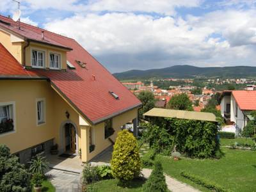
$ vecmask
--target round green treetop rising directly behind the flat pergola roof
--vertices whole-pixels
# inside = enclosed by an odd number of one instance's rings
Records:
[[[193,111],[191,100],[186,93],[174,95],[168,102],[169,109]]]

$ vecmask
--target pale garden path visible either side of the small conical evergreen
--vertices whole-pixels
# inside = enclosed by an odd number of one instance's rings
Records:
[[[151,174],[152,170],[144,168],[142,170],[142,174],[145,178],[148,178]],[[173,179],[168,175],[165,175],[166,184],[168,189],[172,192],[200,192],[199,190],[185,184],[184,182],[180,182],[179,180]]]

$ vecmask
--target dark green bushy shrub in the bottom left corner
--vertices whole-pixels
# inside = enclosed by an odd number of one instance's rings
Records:
[[[31,191],[31,175],[10,149],[0,145],[0,191]]]

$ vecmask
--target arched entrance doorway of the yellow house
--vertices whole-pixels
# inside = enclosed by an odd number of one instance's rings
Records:
[[[63,122],[60,128],[60,152],[78,154],[78,137],[76,124],[70,120]]]

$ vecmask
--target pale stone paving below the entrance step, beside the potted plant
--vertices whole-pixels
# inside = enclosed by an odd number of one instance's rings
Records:
[[[49,170],[46,173],[52,185],[56,188],[56,192],[77,192],[81,191],[80,174],[65,172],[62,170]]]

